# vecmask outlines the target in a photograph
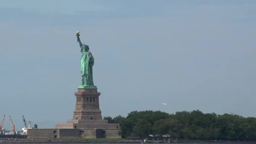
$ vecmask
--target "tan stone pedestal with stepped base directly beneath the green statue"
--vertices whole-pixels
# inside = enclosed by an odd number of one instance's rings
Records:
[[[97,88],[78,88],[72,120],[67,120],[66,124],[56,124],[56,128],[119,129],[118,123],[102,120],[99,108],[100,94]]]

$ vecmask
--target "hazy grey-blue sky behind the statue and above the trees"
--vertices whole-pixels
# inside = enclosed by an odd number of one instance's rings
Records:
[[[95,58],[103,116],[256,116],[255,0],[1,0],[0,119],[20,130],[21,115],[39,128],[72,118],[77,30]]]

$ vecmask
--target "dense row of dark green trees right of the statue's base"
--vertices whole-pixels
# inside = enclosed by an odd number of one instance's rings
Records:
[[[256,140],[256,118],[199,110],[168,114],[161,111],[134,111],[127,117],[104,117],[109,123],[120,123],[122,137],[169,134],[173,139]]]

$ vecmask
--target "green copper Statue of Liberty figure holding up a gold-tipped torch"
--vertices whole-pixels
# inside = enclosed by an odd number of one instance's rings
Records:
[[[89,51],[89,46],[81,43],[79,38],[79,33],[77,31],[77,42],[81,48],[81,76],[82,76],[82,84],[79,88],[96,88],[93,84],[93,64],[94,58],[91,52]]]

